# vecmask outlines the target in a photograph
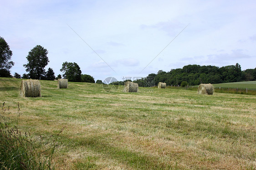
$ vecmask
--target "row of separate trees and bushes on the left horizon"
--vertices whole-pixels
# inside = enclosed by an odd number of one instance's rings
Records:
[[[15,77],[22,79],[37,79],[37,80],[55,80],[61,79],[61,75],[55,77],[52,68],[45,70],[46,65],[49,63],[47,57],[48,51],[41,45],[36,45],[27,55],[27,64],[23,65],[26,68],[27,74],[22,76],[15,73],[14,76],[10,74],[10,68],[14,65],[11,61],[12,51],[4,38],[0,37],[0,77]],[[64,62],[62,68],[63,78],[75,82],[89,82],[95,83],[91,75],[83,75],[77,63]]]

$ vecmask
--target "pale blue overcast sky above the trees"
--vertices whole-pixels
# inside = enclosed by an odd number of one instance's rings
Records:
[[[255,0],[0,0],[0,11],[12,74],[26,73],[36,45],[48,50],[46,70],[62,75],[63,62],[76,62],[95,81],[189,64],[256,67]]]

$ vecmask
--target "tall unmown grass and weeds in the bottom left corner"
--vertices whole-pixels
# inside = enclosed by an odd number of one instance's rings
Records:
[[[18,106],[20,116],[20,107]],[[41,151],[42,142],[31,140],[29,133],[22,133],[15,122],[14,127],[6,122],[5,103],[0,105],[0,169],[1,170],[53,170],[51,165],[55,146]],[[7,119],[8,120],[8,119]]]

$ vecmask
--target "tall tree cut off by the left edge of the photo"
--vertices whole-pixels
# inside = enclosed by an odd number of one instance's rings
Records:
[[[10,68],[14,65],[14,62],[11,61],[11,56],[10,46],[4,38],[0,37],[0,70],[10,71]]]

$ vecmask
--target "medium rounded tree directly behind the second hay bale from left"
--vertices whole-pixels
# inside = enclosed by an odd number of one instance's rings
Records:
[[[67,61],[62,64],[61,71],[64,73],[63,78],[68,81],[81,82],[81,74],[79,65],[77,63],[68,63]]]

